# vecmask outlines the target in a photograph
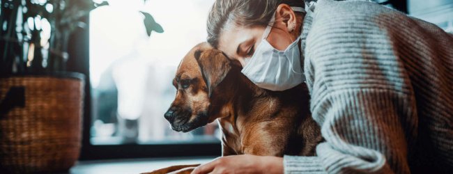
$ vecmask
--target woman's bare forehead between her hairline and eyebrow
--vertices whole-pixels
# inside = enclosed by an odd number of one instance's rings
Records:
[[[236,50],[240,43],[254,39],[259,40],[263,36],[265,26],[250,27],[227,27],[220,33],[218,49],[230,58],[236,58]]]

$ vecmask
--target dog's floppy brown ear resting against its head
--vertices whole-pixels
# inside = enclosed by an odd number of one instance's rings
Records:
[[[208,95],[210,97],[214,88],[227,77],[231,70],[231,61],[217,49],[206,49],[205,51],[197,50],[194,54],[195,59],[200,67],[203,79],[208,86]]]

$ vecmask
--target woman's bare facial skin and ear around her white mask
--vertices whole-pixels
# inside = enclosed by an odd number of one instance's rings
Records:
[[[289,6],[281,11],[277,8],[275,22],[266,40],[278,50],[284,50],[295,40],[298,34],[293,33],[295,28],[295,14]],[[288,17],[291,13],[292,17]],[[286,19],[285,19],[286,18]],[[300,23],[299,23],[300,24]],[[254,50],[261,43],[266,26],[230,26],[220,33],[218,49],[229,58],[245,66],[245,59],[251,58]],[[297,30],[296,30],[297,31]]]

